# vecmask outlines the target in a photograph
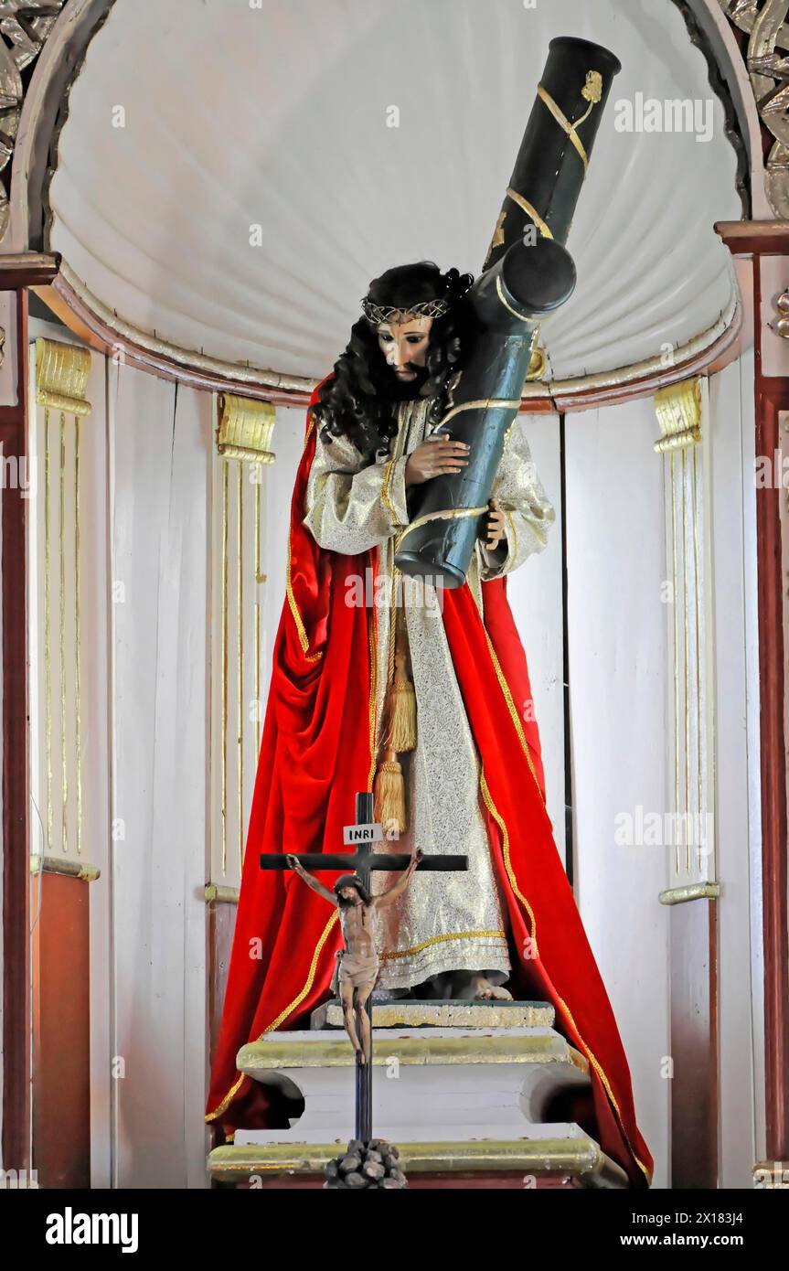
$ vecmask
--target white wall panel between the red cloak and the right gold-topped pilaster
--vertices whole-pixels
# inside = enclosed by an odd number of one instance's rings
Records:
[[[639,1127],[667,1183],[664,850],[616,816],[667,801],[663,463],[651,400],[567,418],[567,571],[576,901],[611,999]]]

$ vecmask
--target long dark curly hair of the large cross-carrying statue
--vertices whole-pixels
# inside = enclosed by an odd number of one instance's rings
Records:
[[[446,413],[447,385],[468,347],[473,315],[466,292],[473,281],[470,273],[457,269],[442,273],[432,261],[419,261],[386,269],[370,283],[367,295],[376,305],[408,309],[423,300],[450,302],[447,313],[431,327],[427,376],[419,389],[422,397],[433,398],[432,422]],[[333,377],[321,386],[314,413],[333,436],[349,437],[357,450],[370,456],[396,432],[395,402],[396,385],[379,347],[376,328],[362,316],[351,328],[347,348],[334,364]]]

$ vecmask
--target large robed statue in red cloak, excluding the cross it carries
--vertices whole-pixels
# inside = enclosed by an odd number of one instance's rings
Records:
[[[337,852],[356,794],[372,792],[388,839],[398,836],[384,850],[469,862],[468,872],[424,872],[370,910],[376,993],[550,1003],[588,1064],[584,1129],[644,1186],[652,1160],[553,838],[507,601],[507,576],[545,547],[555,520],[517,417],[489,507],[473,510],[466,581],[413,586],[394,564],[417,521],[414,492],[469,461],[451,421],[475,347],[471,282],[431,262],[388,269],[310,398],[206,1120],[226,1136],[273,1127],[271,1088],[239,1073],[236,1054],[274,1030],[309,1027],[342,944],[337,906],[327,914],[318,888],[260,869],[260,855]],[[337,871],[325,874],[330,892]],[[374,872],[374,892],[388,886],[388,872]]]

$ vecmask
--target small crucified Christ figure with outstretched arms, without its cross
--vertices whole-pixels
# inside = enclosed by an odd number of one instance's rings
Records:
[[[403,895],[421,860],[422,852],[417,848],[412,855],[410,864],[403,871],[398,881],[381,892],[380,896],[371,896],[358,874],[343,874],[334,883],[334,891],[332,892],[323,883],[318,882],[318,878],[314,878],[311,873],[307,873],[295,855],[288,855],[287,858],[290,868],[300,878],[304,878],[307,887],[311,887],[314,892],[339,909],[344,944],[337,953],[339,960],[337,972],[339,1000],[342,1002],[346,1032],[362,1064],[366,1064],[370,1056],[371,1033],[367,1000],[375,989],[380,970],[370,915],[374,909],[385,909],[398,896]],[[362,1035],[361,1041],[358,1037],[360,1032]]]

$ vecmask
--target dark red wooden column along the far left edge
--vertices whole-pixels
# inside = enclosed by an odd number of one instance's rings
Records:
[[[17,292],[19,402],[0,408],[4,455],[27,450],[28,297]],[[29,955],[29,787],[27,685],[27,500],[4,489],[3,557],[3,1162],[29,1168],[30,1141],[30,955]]]

